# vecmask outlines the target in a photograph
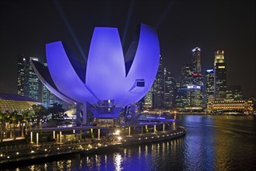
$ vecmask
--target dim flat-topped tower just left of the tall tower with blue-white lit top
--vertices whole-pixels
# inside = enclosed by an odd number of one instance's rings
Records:
[[[193,84],[193,65],[185,64],[181,67],[181,86]]]

